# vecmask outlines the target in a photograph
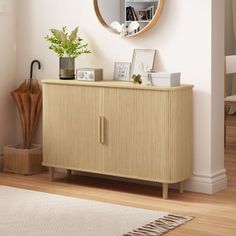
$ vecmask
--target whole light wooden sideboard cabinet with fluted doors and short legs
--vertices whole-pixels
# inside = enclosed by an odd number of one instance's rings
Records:
[[[192,88],[43,81],[43,165],[163,184],[192,175]]]

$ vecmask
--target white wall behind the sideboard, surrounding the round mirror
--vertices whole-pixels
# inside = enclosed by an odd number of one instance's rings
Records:
[[[221,106],[217,104],[212,108],[212,69],[215,69],[212,68],[212,9],[212,0],[166,0],[163,15],[151,31],[139,37],[121,39],[100,25],[93,1],[18,1],[18,79],[20,81],[28,75],[30,61],[34,58],[43,63],[43,70],[37,73],[37,78],[58,78],[58,58],[48,50],[48,43],[43,39],[51,27],[67,25],[72,29],[79,25],[81,35],[93,53],[78,58],[77,66],[102,67],[106,79],[112,79],[115,61],[131,61],[134,48],[156,48],[159,51],[157,69],[181,71],[182,83],[195,86],[195,179],[187,184],[187,188],[210,193],[213,190],[208,184],[212,187],[213,182],[209,183],[209,178],[213,172],[224,171],[222,162],[212,167],[214,145],[219,145],[220,151],[223,148],[223,142],[211,141],[212,135],[221,135],[223,129],[221,119],[211,123],[212,117],[219,115],[213,113]],[[222,69],[223,64],[219,68]],[[219,132],[213,133],[213,129],[219,129]],[[198,185],[199,181],[202,185]]]

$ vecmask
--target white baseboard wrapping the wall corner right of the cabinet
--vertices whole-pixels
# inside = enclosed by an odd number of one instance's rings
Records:
[[[194,175],[186,181],[185,190],[206,194],[214,194],[227,188],[226,170],[223,169],[212,175]]]

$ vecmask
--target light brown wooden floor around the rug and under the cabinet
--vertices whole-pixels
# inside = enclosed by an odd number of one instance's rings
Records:
[[[236,235],[236,126],[235,132],[232,132],[230,127],[227,128],[225,166],[229,178],[226,190],[215,195],[191,192],[180,195],[177,191],[170,190],[168,200],[161,198],[161,189],[157,187],[85,176],[72,176],[69,180],[64,174],[56,174],[56,181],[49,182],[47,173],[29,177],[0,173],[0,184],[195,217],[193,221],[170,232],[168,234],[170,236],[234,236]]]

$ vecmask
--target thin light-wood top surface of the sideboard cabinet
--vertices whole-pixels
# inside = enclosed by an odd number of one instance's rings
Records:
[[[89,87],[108,87],[108,88],[127,88],[127,89],[144,89],[144,90],[182,90],[182,89],[192,89],[193,85],[180,85],[178,87],[158,87],[158,86],[148,86],[134,84],[133,82],[121,82],[114,80],[98,81],[98,82],[88,82],[88,81],[78,81],[78,80],[42,80],[43,84],[56,84],[56,85],[70,85],[70,86],[89,86]]]

